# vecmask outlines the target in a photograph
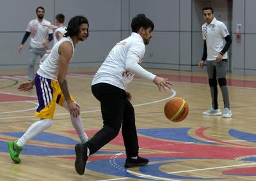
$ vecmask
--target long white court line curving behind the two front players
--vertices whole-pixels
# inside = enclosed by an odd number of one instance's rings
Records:
[[[141,84],[141,83],[140,83]],[[145,84],[145,83],[144,83]],[[150,84],[151,85],[151,84]],[[134,107],[138,107],[138,106],[144,106],[144,105],[151,105],[151,104],[154,104],[154,103],[159,103],[161,101],[166,101],[168,99],[171,99],[173,97],[176,96],[177,92],[175,92],[173,89],[170,90],[173,92],[173,94],[167,98],[164,98],[164,99],[160,99],[160,100],[157,100],[157,101],[152,101],[152,102],[148,102],[148,103],[142,103],[142,104],[138,104],[138,105],[134,105]],[[1,93],[1,92],[0,92]],[[15,94],[14,94],[15,95]],[[100,110],[90,110],[90,111],[83,111],[83,112],[80,112],[80,113],[91,113],[91,112],[100,112]],[[70,113],[56,113],[54,115],[70,115]],[[2,119],[22,119],[22,118],[31,118],[31,117],[35,117],[34,115],[31,115],[31,116],[22,116],[22,117],[2,117],[0,118],[0,120]]]

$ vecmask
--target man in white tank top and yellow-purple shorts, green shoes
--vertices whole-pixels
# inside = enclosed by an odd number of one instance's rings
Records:
[[[32,124],[19,140],[8,142],[8,150],[15,163],[20,163],[19,154],[26,142],[51,127],[56,103],[70,112],[71,122],[81,143],[88,140],[84,133],[80,106],[70,95],[66,80],[68,64],[72,60],[76,44],[88,37],[88,25],[88,20],[83,16],[72,18],[68,22],[65,38],[54,45],[51,54],[40,65],[35,78],[19,85],[19,91],[29,91],[35,85],[39,103],[35,115],[40,120]]]

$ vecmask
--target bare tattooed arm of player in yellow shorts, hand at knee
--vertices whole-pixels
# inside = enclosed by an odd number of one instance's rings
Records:
[[[74,117],[80,114],[79,105],[72,102],[70,98],[70,94],[68,92],[68,84],[66,80],[66,75],[68,71],[68,64],[72,58],[73,47],[70,42],[64,41],[61,43],[59,47],[60,53],[60,63],[59,63],[59,71],[58,71],[58,82],[60,84],[61,92],[63,93],[65,100],[67,101],[68,109],[70,110],[70,114]]]

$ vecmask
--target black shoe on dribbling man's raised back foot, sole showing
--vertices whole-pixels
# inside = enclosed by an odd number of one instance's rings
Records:
[[[76,161],[75,161],[76,172],[79,175],[83,175],[86,161],[88,159],[87,147],[86,145],[83,145],[83,144],[77,144],[75,147],[75,151],[76,151]]]

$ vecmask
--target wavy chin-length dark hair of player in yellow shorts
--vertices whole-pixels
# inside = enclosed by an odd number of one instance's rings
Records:
[[[83,16],[76,16],[74,18],[72,18],[69,22],[68,22],[68,27],[67,27],[67,33],[65,33],[65,37],[70,36],[77,36],[80,33],[80,25],[81,24],[88,24],[88,30],[87,30],[87,35],[86,38],[88,38],[89,36],[89,23],[86,17]]]

